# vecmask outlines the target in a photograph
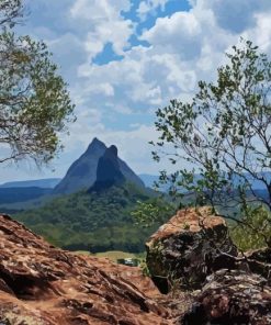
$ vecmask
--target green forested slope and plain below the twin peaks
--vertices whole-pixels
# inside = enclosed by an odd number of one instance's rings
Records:
[[[126,183],[100,193],[80,191],[59,197],[14,217],[66,249],[139,253],[158,224],[149,229],[134,224],[131,212],[138,200],[147,202],[149,193]]]

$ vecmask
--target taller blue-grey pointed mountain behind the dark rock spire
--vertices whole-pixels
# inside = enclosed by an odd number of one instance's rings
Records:
[[[56,186],[54,194],[75,193],[81,189],[89,189],[97,180],[99,159],[105,154],[108,147],[97,137],[90,143],[87,150],[69,167],[64,179]],[[144,188],[140,178],[117,157],[121,172],[137,187]]]

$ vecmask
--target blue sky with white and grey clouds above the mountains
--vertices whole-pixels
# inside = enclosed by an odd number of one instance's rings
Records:
[[[43,40],[68,82],[77,121],[48,168],[1,164],[0,182],[63,177],[93,137],[115,144],[137,173],[151,159],[155,112],[213,81],[242,36],[271,54],[270,0],[26,0],[19,32]],[[1,150],[1,148],[0,148]]]

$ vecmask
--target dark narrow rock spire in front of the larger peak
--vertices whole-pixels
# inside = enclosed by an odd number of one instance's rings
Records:
[[[102,191],[111,188],[112,186],[120,186],[125,181],[118,160],[117,160],[117,148],[111,146],[99,159],[97,167],[97,180],[94,184],[89,189],[92,191]]]

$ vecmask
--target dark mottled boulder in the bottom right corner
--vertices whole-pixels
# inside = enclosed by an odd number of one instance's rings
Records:
[[[258,274],[219,270],[210,276],[192,307],[177,324],[269,325],[271,288]]]

